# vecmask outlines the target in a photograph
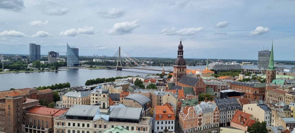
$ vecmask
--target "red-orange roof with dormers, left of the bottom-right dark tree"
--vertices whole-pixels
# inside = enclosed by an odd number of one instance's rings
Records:
[[[244,126],[244,127],[251,126],[251,124],[254,123],[255,121],[253,119],[251,119],[250,116],[252,116],[252,115],[236,109],[236,113],[234,114],[234,116],[232,116],[232,122],[234,122],[235,124],[239,124],[241,126]]]

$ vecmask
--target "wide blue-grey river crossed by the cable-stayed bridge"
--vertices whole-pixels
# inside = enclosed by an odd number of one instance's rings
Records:
[[[187,69],[204,69],[206,66],[187,67]],[[294,65],[281,65],[280,67],[291,68]],[[160,69],[162,67],[149,67]],[[173,69],[173,67],[164,67]],[[243,68],[257,68],[257,65],[243,65]],[[64,69],[64,68],[63,68]],[[59,83],[69,82],[71,86],[83,86],[85,82],[96,78],[124,77],[161,73],[160,71],[140,70],[140,69],[74,69],[67,68],[69,71],[58,72],[30,72],[30,73],[5,73],[0,74],[0,91],[9,90],[10,88],[32,88],[39,86],[49,86]]]

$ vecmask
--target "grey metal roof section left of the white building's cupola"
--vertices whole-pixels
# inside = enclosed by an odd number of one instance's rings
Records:
[[[67,116],[90,116],[94,117],[100,106],[74,105],[66,113]]]

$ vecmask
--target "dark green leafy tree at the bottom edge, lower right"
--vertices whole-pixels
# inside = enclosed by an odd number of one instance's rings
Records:
[[[258,119],[252,123],[251,126],[248,126],[247,132],[249,133],[268,133],[268,130],[266,129],[266,121],[262,121],[261,123],[258,121]]]

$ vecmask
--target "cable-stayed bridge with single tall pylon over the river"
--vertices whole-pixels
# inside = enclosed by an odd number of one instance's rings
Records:
[[[122,56],[121,56],[122,53]],[[163,71],[160,69],[151,69],[147,68],[143,61],[136,59],[132,57],[129,53],[123,51],[121,47],[117,50],[117,52],[113,55],[114,57],[118,57],[117,60],[117,66],[105,66],[106,68],[109,69],[117,69],[117,70],[122,70],[124,69],[141,69],[141,70],[151,70],[151,71]],[[132,67],[123,67],[122,66],[122,60],[126,62],[126,64],[132,66]],[[173,72],[172,70],[164,70],[165,72]]]

